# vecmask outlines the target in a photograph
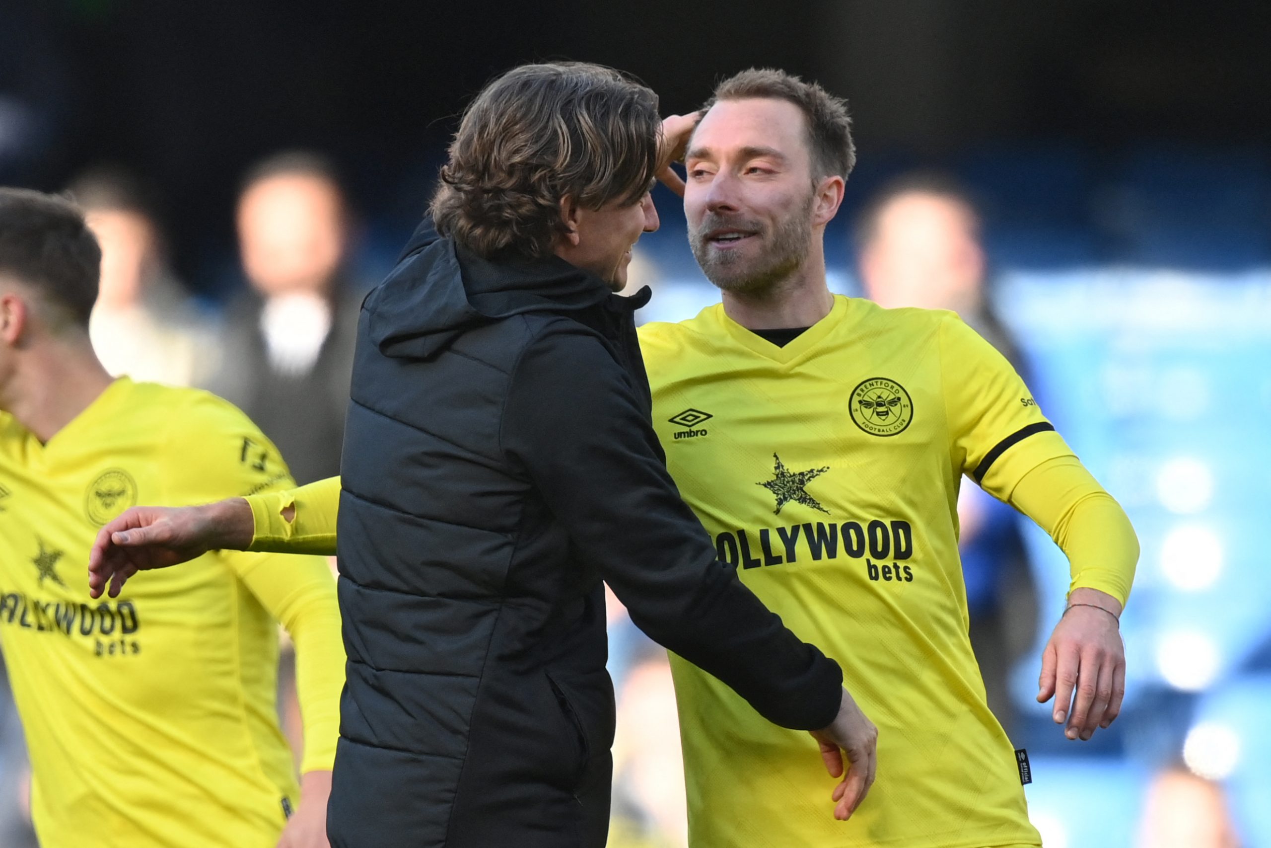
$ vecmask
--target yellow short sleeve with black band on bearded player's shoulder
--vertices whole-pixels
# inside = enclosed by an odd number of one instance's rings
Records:
[[[1024,474],[1073,451],[1002,353],[956,314],[939,320],[951,459],[984,491],[1009,502]]]

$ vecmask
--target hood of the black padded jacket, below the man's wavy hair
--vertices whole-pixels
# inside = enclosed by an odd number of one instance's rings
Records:
[[[385,356],[431,359],[465,331],[511,315],[587,309],[610,299],[638,309],[648,289],[614,295],[564,259],[491,262],[441,238],[426,220],[398,264],[366,297],[367,331]]]

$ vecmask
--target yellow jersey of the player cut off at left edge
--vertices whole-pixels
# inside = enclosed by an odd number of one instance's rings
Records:
[[[277,843],[297,786],[278,628],[253,581],[276,567],[291,594],[324,581],[334,609],[325,561],[214,552],[99,600],[86,566],[98,529],[136,503],[289,486],[273,445],[205,392],[119,379],[47,444],[0,413],[0,646],[46,848]],[[314,767],[330,768],[341,680],[305,716]]]

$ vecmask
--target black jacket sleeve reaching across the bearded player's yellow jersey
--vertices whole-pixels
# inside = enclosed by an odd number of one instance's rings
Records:
[[[841,670],[716,561],[666,470],[641,388],[595,337],[540,336],[512,375],[503,450],[649,637],[769,721],[827,726]]]

